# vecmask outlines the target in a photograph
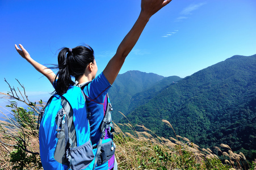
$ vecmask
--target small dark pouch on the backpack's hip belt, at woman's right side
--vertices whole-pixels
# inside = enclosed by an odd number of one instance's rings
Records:
[[[106,163],[108,160],[110,160],[110,158],[112,158],[112,156],[115,154],[115,150],[116,150],[116,145],[112,141],[112,139],[106,143],[102,143],[97,164],[102,165]]]

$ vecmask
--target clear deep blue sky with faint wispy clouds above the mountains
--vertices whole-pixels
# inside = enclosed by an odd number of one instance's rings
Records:
[[[44,65],[56,64],[64,46],[89,44],[100,73],[139,16],[140,1],[1,0],[0,9],[0,92],[9,90],[4,78],[18,87],[16,78],[33,101],[53,88],[14,44]],[[255,0],[173,0],[149,20],[120,73],[184,78],[237,54],[256,54]]]

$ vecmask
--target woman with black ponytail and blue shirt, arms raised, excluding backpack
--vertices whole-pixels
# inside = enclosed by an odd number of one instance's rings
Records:
[[[90,46],[77,46],[73,49],[63,48],[58,54],[58,73],[54,74],[51,69],[37,63],[30,57],[26,49],[19,44],[21,50],[15,44],[17,52],[25,58],[37,71],[45,75],[53,84],[56,94],[63,95],[68,90],[69,86],[73,86],[72,76],[78,82],[83,84],[91,81],[83,91],[86,94],[87,109],[91,113],[90,128],[91,142],[94,145],[99,141],[100,130],[99,126],[106,111],[104,105],[109,88],[114,83],[116,76],[119,74],[125,58],[131,52],[139,39],[145,25],[150,17],[166,6],[171,0],[141,0],[141,12],[132,29],[121,41],[117,48],[116,54],[110,59],[106,68],[96,76],[98,67],[94,59],[94,51]],[[106,135],[109,138],[110,134]],[[97,166],[95,169],[117,169],[116,163],[114,167],[114,156],[106,165]]]

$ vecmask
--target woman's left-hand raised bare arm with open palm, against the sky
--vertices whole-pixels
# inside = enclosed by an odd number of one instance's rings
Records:
[[[53,71],[51,69],[48,69],[47,67],[45,67],[45,66],[41,65],[40,63],[36,62],[35,60],[33,60],[30,57],[30,54],[27,52],[26,49],[24,49],[24,47],[21,44],[19,44],[19,46],[20,46],[21,50],[15,44],[15,48],[16,48],[17,52],[20,54],[20,56],[25,58],[33,67],[35,67],[35,69],[37,71],[39,71],[41,74],[46,76],[48,78],[48,80],[53,84],[56,74],[53,73]]]

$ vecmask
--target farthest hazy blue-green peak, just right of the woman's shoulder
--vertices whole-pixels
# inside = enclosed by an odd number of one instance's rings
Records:
[[[114,122],[122,117],[118,111],[124,114],[128,111],[133,95],[151,87],[163,78],[164,76],[161,75],[141,71],[127,71],[124,74],[117,75],[112,88],[108,92],[114,107],[112,113]]]

